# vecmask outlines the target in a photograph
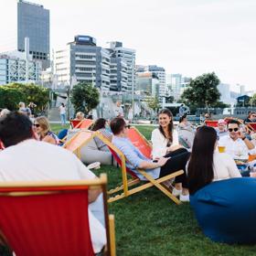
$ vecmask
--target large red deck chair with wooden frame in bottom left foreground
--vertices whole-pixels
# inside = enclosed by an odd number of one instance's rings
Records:
[[[2,240],[16,256],[94,255],[88,216],[88,190],[101,188],[106,202],[107,176],[95,180],[1,182]],[[115,255],[114,219],[104,203],[107,245]]]

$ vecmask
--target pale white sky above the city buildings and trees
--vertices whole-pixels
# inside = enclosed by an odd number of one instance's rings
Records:
[[[0,0],[0,51],[16,44],[16,0]],[[255,0],[31,0],[50,10],[51,48],[75,35],[122,41],[136,64],[195,78],[215,71],[239,91],[256,90]]]

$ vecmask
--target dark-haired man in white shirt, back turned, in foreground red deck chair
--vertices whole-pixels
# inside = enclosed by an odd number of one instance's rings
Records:
[[[11,112],[0,119],[0,181],[94,179],[80,160],[59,146],[35,139],[32,123],[24,114]],[[101,191],[89,191],[89,223],[95,253],[106,243],[106,231],[96,214],[103,216]]]

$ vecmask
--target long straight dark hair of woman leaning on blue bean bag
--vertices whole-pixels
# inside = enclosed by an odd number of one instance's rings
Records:
[[[214,177],[213,154],[216,142],[217,133],[214,128],[202,126],[197,129],[187,166],[187,182],[191,195],[212,182]]]

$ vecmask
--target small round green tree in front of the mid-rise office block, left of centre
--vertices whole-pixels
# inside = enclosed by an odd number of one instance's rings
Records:
[[[91,84],[78,83],[71,91],[71,102],[76,112],[88,113],[100,102],[100,93]]]

